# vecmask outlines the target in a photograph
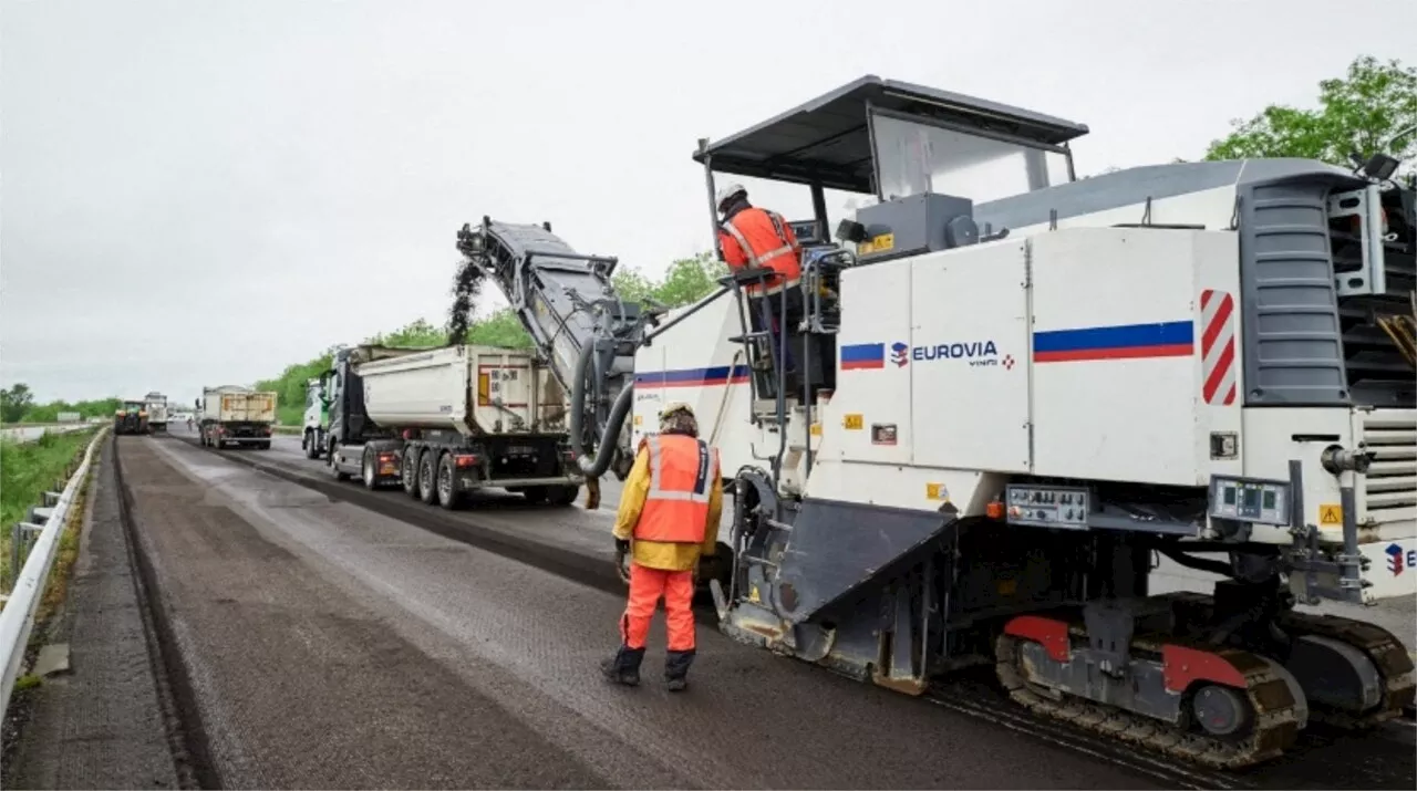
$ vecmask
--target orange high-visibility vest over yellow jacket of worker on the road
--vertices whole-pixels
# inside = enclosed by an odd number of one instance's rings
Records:
[[[645,437],[649,494],[635,525],[638,541],[703,543],[718,451],[683,434]]]

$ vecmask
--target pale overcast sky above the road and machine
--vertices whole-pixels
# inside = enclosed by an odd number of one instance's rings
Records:
[[[1088,174],[1417,61],[1387,0],[0,8],[0,383],[41,400],[190,403],[442,323],[483,214],[657,275],[708,248],[697,137],[863,74],[1085,123]]]

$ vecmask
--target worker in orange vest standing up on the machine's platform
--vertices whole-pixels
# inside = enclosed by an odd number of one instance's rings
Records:
[[[782,215],[748,202],[748,191],[741,184],[728,184],[718,191],[718,249],[728,269],[769,269],[767,284],[744,286],[748,296],[748,316],[752,330],[772,330],[772,355],[778,354],[779,327],[789,317],[802,314],[802,248],[796,233]],[[786,290],[786,310],[782,291]],[[791,327],[791,324],[789,324]],[[792,371],[792,344],[788,344],[784,371]]]

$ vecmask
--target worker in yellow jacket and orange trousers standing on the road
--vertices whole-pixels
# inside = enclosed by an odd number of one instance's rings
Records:
[[[669,654],[665,681],[670,692],[689,686],[694,661],[694,569],[713,555],[723,512],[718,451],[699,439],[687,403],[659,413],[659,434],[645,437],[625,478],[615,516],[615,549],[631,556],[629,603],[621,616],[621,647],[601,664],[605,678],[636,686],[645,638],[659,599],[665,599]]]

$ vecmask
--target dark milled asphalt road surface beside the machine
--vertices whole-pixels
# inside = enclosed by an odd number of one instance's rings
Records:
[[[614,485],[599,512],[487,495],[446,514],[402,492],[371,495],[390,504],[374,511],[235,463],[315,480],[322,464],[298,439],[224,454],[173,439],[120,437],[119,457],[191,719],[227,787],[1414,785],[1408,724],[1217,775],[988,699],[854,683],[708,625],[687,693],[660,683],[662,624],[646,683],[611,686],[595,666],[616,644],[621,594],[577,582],[572,560],[553,573],[473,535],[608,563]],[[435,516],[466,535],[429,528]]]

